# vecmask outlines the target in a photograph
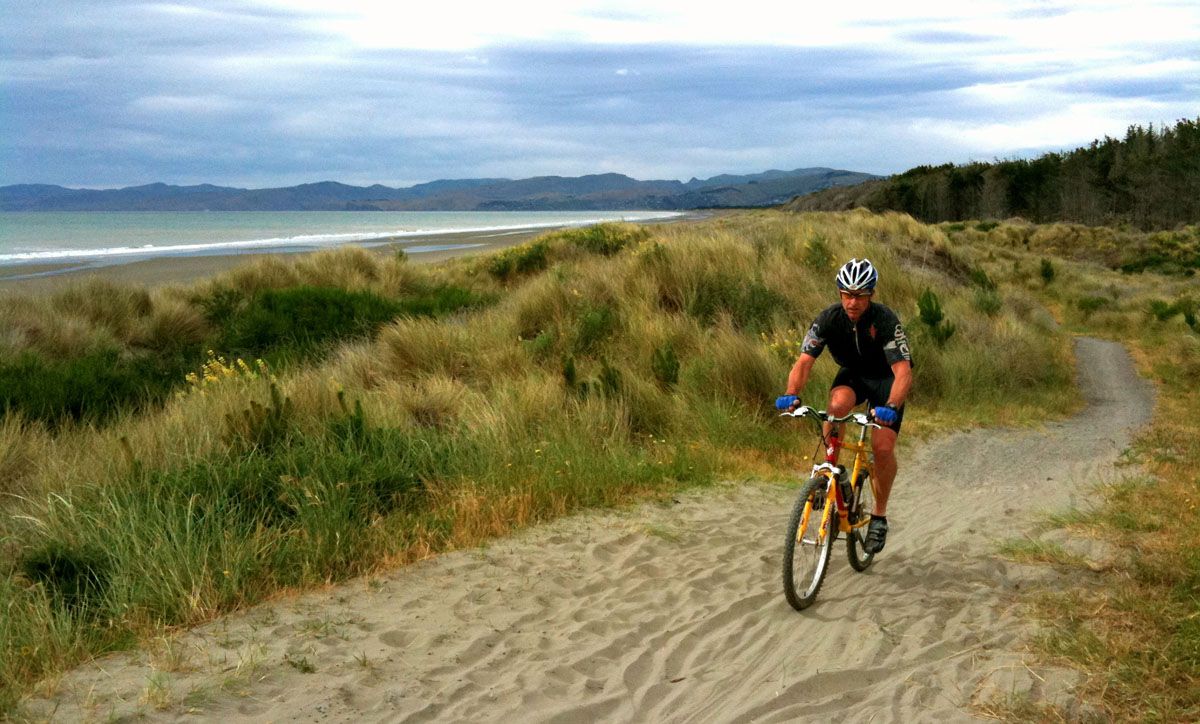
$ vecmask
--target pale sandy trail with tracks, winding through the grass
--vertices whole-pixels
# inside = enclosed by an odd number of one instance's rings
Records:
[[[263,606],[80,668],[31,705],[56,720],[881,724],[1069,698],[1070,676],[1014,651],[1031,629],[1012,594],[1078,576],[994,551],[1115,478],[1150,417],[1120,345],[1085,339],[1076,355],[1085,412],[920,445],[887,550],[856,574],[839,540],[803,614],[780,585],[796,486],[727,483]]]

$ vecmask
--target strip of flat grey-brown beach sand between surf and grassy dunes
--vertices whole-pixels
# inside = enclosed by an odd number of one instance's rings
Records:
[[[714,216],[713,213],[686,211],[679,216],[630,222],[638,226],[658,226],[698,221]],[[408,259],[416,264],[433,264],[449,258],[473,253],[490,253],[508,246],[523,244],[544,234],[576,228],[570,225],[526,229],[491,229],[467,232],[438,232],[412,237],[380,237],[353,244],[323,246],[319,249],[276,249],[244,252],[188,253],[160,256],[148,259],[61,262],[0,265],[0,297],[12,294],[48,294],[72,283],[91,279],[103,279],[118,283],[133,283],[148,288],[174,283],[194,283],[223,274],[235,267],[265,256],[305,255],[340,246],[362,246],[377,253],[395,253],[403,250]]]

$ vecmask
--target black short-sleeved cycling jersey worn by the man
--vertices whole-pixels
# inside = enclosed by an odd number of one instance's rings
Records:
[[[834,361],[860,377],[892,377],[892,365],[912,363],[908,335],[900,318],[882,304],[871,303],[859,317],[850,321],[841,304],[834,304],[817,315],[804,335],[800,352],[820,357],[829,347]]]

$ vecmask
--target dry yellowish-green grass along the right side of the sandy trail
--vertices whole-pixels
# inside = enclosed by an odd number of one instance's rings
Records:
[[[1001,227],[1000,231],[1003,231]],[[1094,234],[1104,237],[1110,231]],[[1172,234],[1177,234],[1175,232]],[[1153,246],[1126,249],[1118,269],[1145,269]],[[1070,259],[1080,256],[1072,250]],[[1087,255],[1082,255],[1086,257]],[[1032,268],[1032,256],[1002,259]],[[1096,263],[1056,257],[1054,279],[1031,279],[1066,328],[1126,345],[1142,376],[1158,387],[1152,423],[1124,454],[1128,479],[1097,490],[1099,504],[1056,517],[1079,535],[1098,538],[1123,555],[1103,572],[1075,566],[1090,580],[1070,592],[1026,599],[1044,623],[1036,650],[1088,674],[1078,694],[1104,722],[1192,723],[1200,720],[1200,335],[1189,315],[1200,287],[1180,265],[1162,274],[1129,274]],[[1038,288],[1040,287],[1040,288]],[[1025,705],[1014,722],[1069,720],[1055,706]]]

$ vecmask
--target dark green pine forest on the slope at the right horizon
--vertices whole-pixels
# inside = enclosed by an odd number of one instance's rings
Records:
[[[792,210],[864,207],[926,222],[1021,217],[1169,229],[1200,220],[1200,118],[1130,126],[1124,138],[1032,160],[918,166],[793,199]]]

